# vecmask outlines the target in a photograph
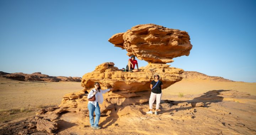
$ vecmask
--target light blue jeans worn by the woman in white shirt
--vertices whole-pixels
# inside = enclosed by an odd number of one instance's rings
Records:
[[[98,122],[100,121],[100,106],[97,102],[97,107],[95,107],[92,103],[88,104],[89,117],[91,126],[98,126]],[[94,123],[94,111],[95,111],[95,123]]]

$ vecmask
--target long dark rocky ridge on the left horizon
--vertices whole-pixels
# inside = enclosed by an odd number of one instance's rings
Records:
[[[41,72],[35,72],[33,74],[24,74],[24,73],[6,73],[0,72],[0,76],[18,80],[18,81],[46,81],[46,82],[81,82],[81,77],[64,77],[64,76],[48,76],[41,74]]]

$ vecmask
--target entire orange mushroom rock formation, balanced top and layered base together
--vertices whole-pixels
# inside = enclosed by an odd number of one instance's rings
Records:
[[[125,33],[115,34],[109,39],[111,43],[126,49],[128,55],[134,54],[149,64],[140,67],[139,72],[123,72],[112,62],[102,63],[82,77],[81,86],[84,90],[66,94],[59,107],[42,109],[36,114],[53,123],[58,121],[62,112],[75,112],[82,118],[88,116],[87,95],[94,88],[95,82],[100,83],[102,90],[113,88],[103,94],[101,115],[115,112],[118,107],[148,102],[151,93],[150,82],[155,73],[160,75],[163,89],[182,80],[181,74],[184,70],[170,67],[166,63],[172,62],[174,57],[189,55],[192,48],[189,40],[190,37],[185,31],[154,24],[137,25]],[[122,115],[125,111],[126,109],[118,113]]]

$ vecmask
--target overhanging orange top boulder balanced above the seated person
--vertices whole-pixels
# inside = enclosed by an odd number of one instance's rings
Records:
[[[137,25],[124,33],[114,34],[109,42],[148,63],[171,63],[178,56],[190,54],[192,45],[186,31],[155,24]]]

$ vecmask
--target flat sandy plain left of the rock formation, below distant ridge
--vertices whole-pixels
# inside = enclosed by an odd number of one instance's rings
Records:
[[[58,106],[66,93],[81,91],[80,82],[26,82],[0,77],[0,122],[35,115]]]

